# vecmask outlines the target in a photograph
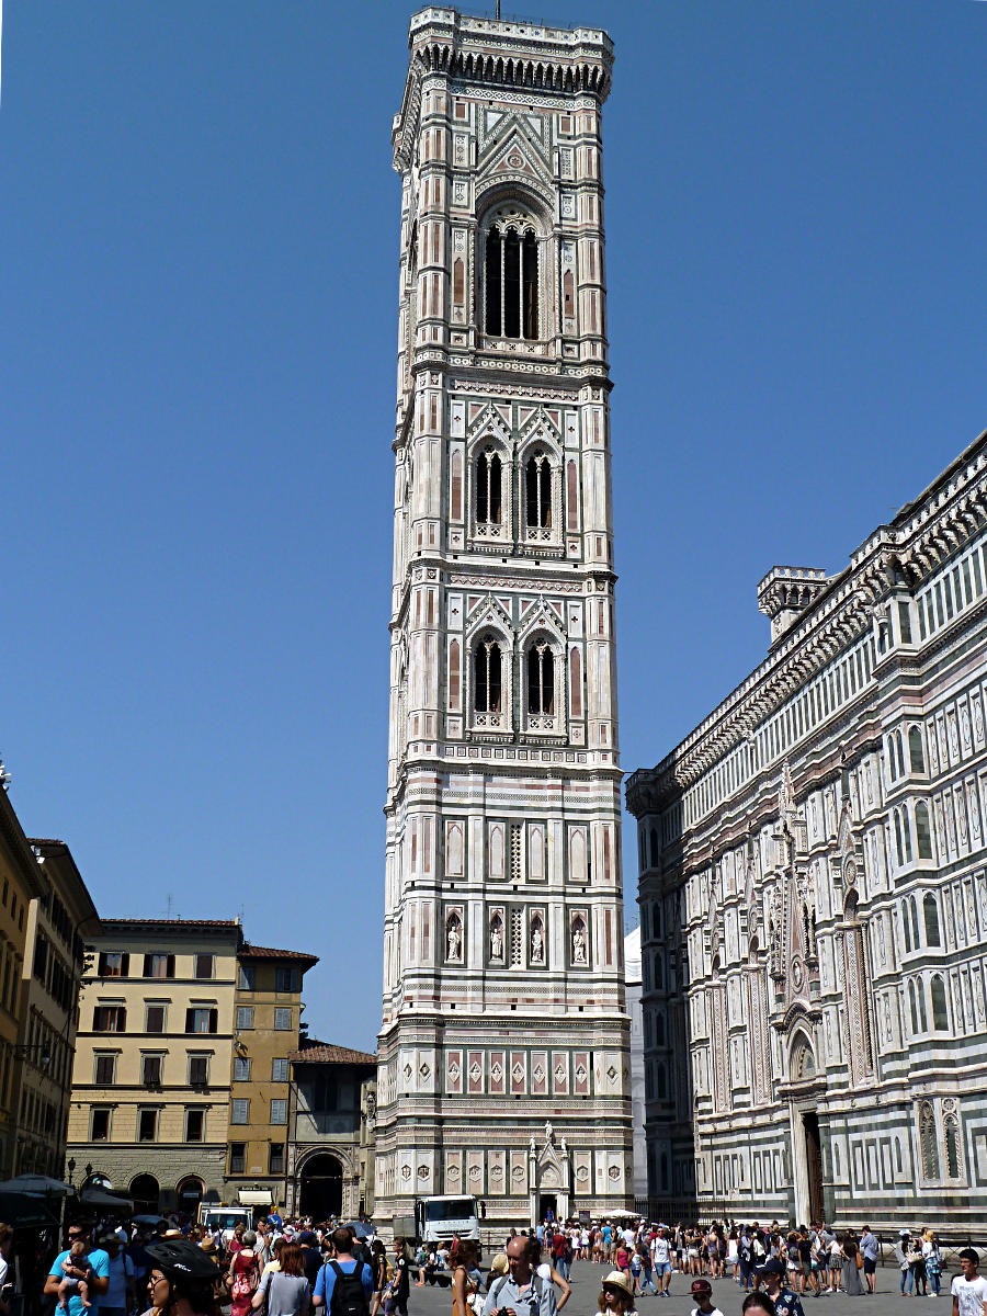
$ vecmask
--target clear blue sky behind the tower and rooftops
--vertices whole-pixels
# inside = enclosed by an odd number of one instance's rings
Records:
[[[537,9],[617,47],[630,771],[761,659],[769,567],[838,570],[987,424],[987,5]],[[379,1024],[409,13],[4,7],[11,797],[101,912],[242,907],[253,940],[320,954],[312,1030],[359,1046]]]

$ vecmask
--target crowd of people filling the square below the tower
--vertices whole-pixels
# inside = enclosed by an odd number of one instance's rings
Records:
[[[9,1311],[9,1238],[0,1224],[0,1316]],[[396,1238],[386,1246],[368,1223],[279,1216],[229,1233],[167,1220],[153,1230],[74,1223],[64,1244],[47,1267],[47,1316],[322,1316],[318,1308],[324,1316],[408,1316],[412,1287],[436,1283],[451,1288],[451,1316],[558,1316],[572,1294],[574,1261],[604,1267],[597,1316],[637,1316],[638,1299],[671,1295],[672,1275],[687,1280],[691,1316],[724,1316],[713,1305],[715,1280],[744,1290],[742,1313],[804,1316],[808,1296],[874,1294],[880,1259],[867,1227],[858,1234],[824,1224],[700,1229],[641,1220],[512,1229],[487,1270],[476,1240],[409,1249]],[[930,1230],[901,1229],[894,1255],[901,1295],[942,1291],[942,1254]],[[965,1249],[958,1259],[953,1316],[987,1316],[978,1254]]]

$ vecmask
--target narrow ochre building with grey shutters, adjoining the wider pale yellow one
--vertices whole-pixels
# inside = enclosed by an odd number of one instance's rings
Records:
[[[228,1200],[283,1205],[288,1161],[288,1057],[297,1050],[301,982],[317,955],[245,942],[238,954]]]

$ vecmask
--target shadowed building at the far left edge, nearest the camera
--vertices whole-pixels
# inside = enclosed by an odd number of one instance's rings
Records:
[[[0,1178],[13,1173],[17,1094],[25,1044],[21,1037],[26,992],[24,958],[32,900],[45,895],[41,867],[7,795],[0,763]]]

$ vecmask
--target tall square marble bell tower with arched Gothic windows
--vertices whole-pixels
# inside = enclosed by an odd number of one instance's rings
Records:
[[[411,22],[376,1213],[626,1204],[605,33]]]

